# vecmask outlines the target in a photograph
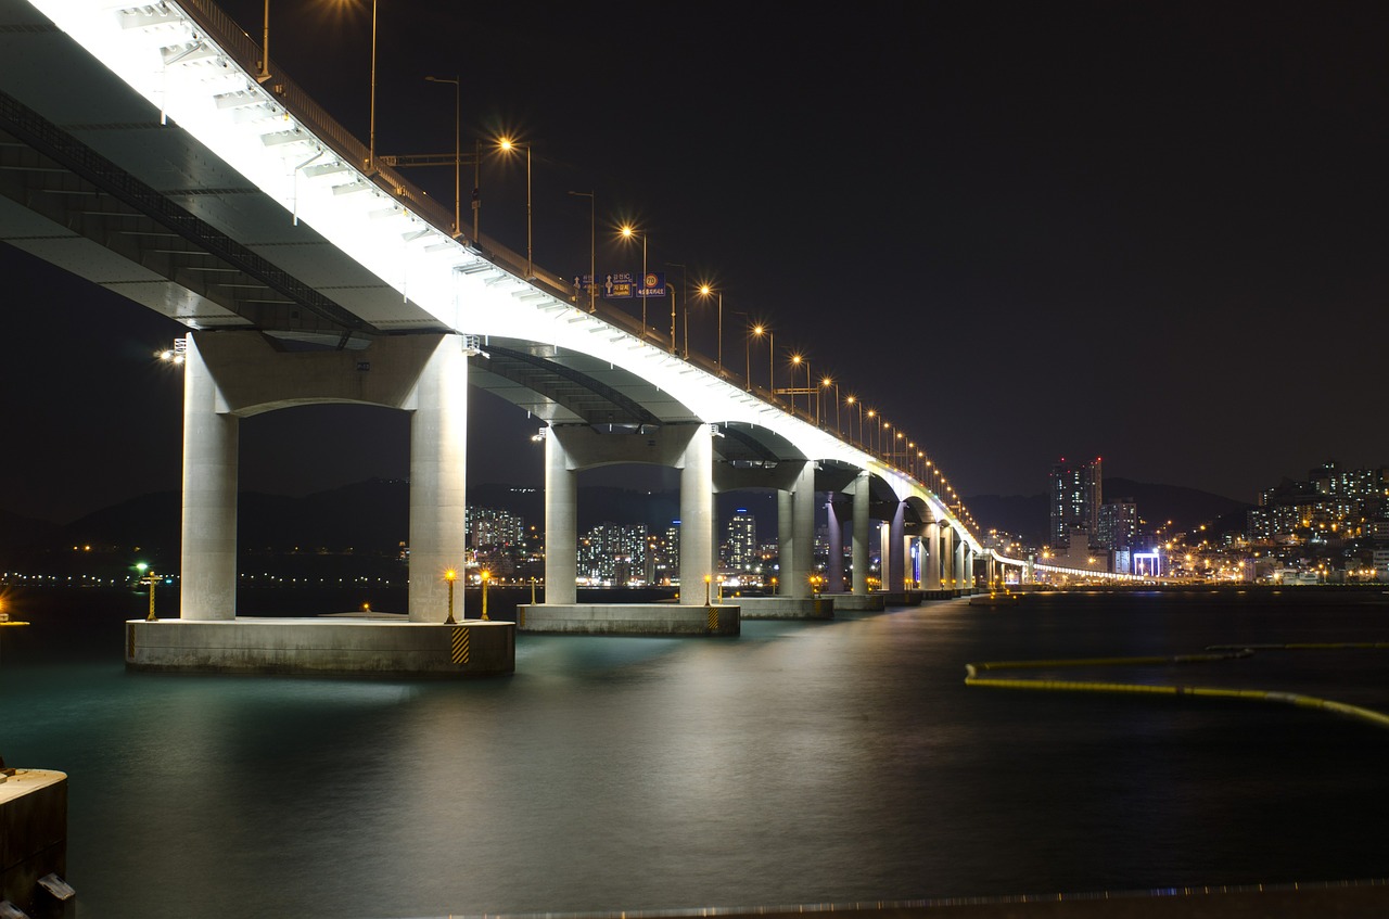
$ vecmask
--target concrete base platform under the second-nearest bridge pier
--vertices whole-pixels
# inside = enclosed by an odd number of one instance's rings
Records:
[[[742,633],[736,605],[535,604],[517,607],[517,629],[551,634],[726,636]]]

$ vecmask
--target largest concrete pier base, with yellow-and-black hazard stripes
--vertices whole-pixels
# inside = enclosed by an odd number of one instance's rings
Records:
[[[467,679],[514,673],[515,659],[513,622],[378,615],[125,623],[131,671]]]

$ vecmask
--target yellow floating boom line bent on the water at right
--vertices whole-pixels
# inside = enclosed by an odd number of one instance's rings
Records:
[[[1206,654],[1178,654],[1172,657],[1126,657],[1126,658],[1060,658],[1049,661],[989,661],[985,664],[964,665],[965,686],[988,686],[993,689],[1021,689],[1050,693],[1125,693],[1139,695],[1200,695],[1206,698],[1243,698],[1260,702],[1282,702],[1299,708],[1315,708],[1347,718],[1370,722],[1378,727],[1389,727],[1389,715],[1376,712],[1372,708],[1349,705],[1329,698],[1303,695],[1300,693],[1283,693],[1278,690],[1238,690],[1213,686],[1164,686],[1153,683],[1100,683],[1089,680],[1017,680],[985,677],[979,673],[985,671],[1014,671],[1028,668],[1063,668],[1063,666],[1139,666],[1154,664],[1206,664],[1211,661],[1231,661],[1246,658],[1256,650],[1268,651],[1343,651],[1343,650],[1389,650],[1389,643],[1325,643],[1325,644],[1213,644],[1206,648]]]

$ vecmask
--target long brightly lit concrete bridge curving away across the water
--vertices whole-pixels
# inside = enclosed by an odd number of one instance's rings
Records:
[[[182,622],[238,622],[239,419],[311,403],[411,412],[408,622],[451,619],[469,386],[544,425],[546,594],[522,627],[622,630],[575,591],[576,475],[607,464],[681,471],[685,590],[642,629],[728,633],[739,616],[871,602],[872,525],[889,597],[971,591],[976,562],[990,583],[1020,564],[985,551],[910,451],[870,450],[682,357],[529,253],[468,235],[374,154],[211,0],[0,0],[0,239],[189,329]],[[733,489],[778,493],[782,596],[740,598],[715,626],[699,586],[717,571],[714,494]],[[128,661],[156,641],[149,625],[132,623]]]

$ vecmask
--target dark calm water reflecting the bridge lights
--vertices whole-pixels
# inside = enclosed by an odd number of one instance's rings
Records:
[[[138,596],[29,594],[0,754],[69,775],[85,919],[439,916],[1383,877],[1389,732],[965,687],[972,661],[1389,641],[1389,596],[965,601],[739,639],[518,636],[472,683],[126,673]],[[354,604],[356,605],[356,604]],[[1043,676],[1046,673],[1039,673]],[[1389,651],[1064,679],[1389,711]]]

